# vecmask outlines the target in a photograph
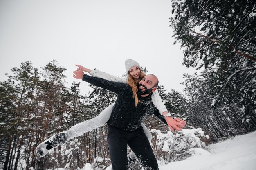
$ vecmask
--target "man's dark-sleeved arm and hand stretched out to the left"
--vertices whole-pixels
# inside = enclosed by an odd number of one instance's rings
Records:
[[[117,94],[119,94],[121,91],[124,91],[124,89],[128,87],[125,83],[112,82],[103,78],[88,76],[83,73],[83,70],[76,70],[73,73],[73,77],[76,79],[82,79],[83,81],[86,81],[92,85],[110,90],[111,92]]]

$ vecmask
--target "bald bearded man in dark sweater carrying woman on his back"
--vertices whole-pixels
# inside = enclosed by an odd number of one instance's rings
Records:
[[[82,79],[92,85],[102,87],[118,94],[110,119],[108,120],[108,146],[113,170],[126,170],[127,144],[140,160],[145,170],[158,170],[157,160],[148,139],[141,127],[143,118],[155,114],[167,124],[151,101],[152,92],[156,90],[158,79],[148,74],[139,82],[139,104],[135,107],[132,89],[126,83],[111,82],[102,78],[85,75],[82,70],[74,72],[74,78]],[[165,115],[166,120],[170,115]],[[171,118],[172,119],[172,118]],[[175,129],[184,127],[184,123],[176,122]]]

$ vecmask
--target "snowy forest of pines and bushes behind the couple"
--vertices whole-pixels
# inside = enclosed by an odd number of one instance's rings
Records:
[[[184,74],[182,93],[158,86],[172,116],[187,122],[183,131],[171,133],[155,116],[144,120],[156,158],[164,163],[190,157],[191,148],[207,150],[208,144],[256,130],[255,1],[172,0],[170,12],[182,64],[202,71]],[[73,170],[90,163],[105,170],[111,165],[106,124],[36,159],[34,149],[47,137],[115,102],[114,93],[92,85],[81,95],[83,82],[66,87],[64,71],[55,60],[41,68],[26,61],[0,82],[0,169]],[[141,168],[137,163],[133,169]]]

